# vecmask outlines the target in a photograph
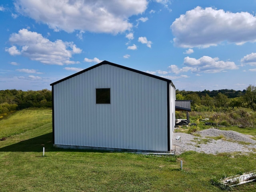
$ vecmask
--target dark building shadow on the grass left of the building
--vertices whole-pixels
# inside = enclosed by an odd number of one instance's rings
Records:
[[[20,141],[16,144],[2,147],[0,148],[0,152],[42,152],[43,147],[47,151],[56,150],[52,146],[52,133],[48,133],[35,138]]]

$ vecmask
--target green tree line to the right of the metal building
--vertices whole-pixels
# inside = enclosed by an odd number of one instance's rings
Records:
[[[191,108],[194,111],[227,111],[238,107],[256,110],[256,86],[249,85],[243,91],[176,90],[176,100],[192,100]]]

